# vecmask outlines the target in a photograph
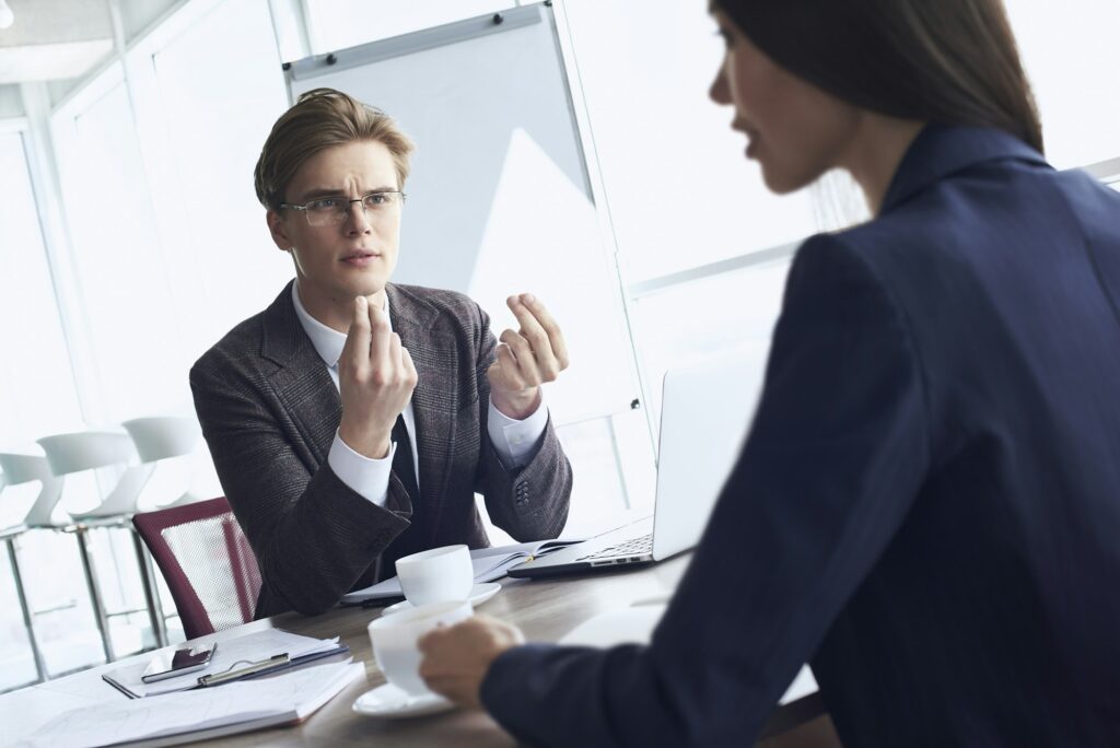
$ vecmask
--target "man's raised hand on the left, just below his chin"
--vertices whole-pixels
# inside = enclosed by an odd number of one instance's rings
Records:
[[[416,385],[412,357],[401,337],[389,329],[388,315],[364,296],[355,298],[354,321],[338,358],[343,401],[338,436],[358,455],[384,458],[396,417]]]

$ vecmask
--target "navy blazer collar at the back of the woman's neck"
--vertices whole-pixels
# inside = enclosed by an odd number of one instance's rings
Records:
[[[1018,159],[1046,166],[1042,153],[993,128],[930,123],[906,150],[883,199],[887,213],[951,174],[983,161]]]

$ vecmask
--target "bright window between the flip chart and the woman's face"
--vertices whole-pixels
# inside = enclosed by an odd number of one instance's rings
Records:
[[[767,193],[731,110],[708,99],[722,47],[702,4],[563,7],[626,281],[815,231],[809,194]]]

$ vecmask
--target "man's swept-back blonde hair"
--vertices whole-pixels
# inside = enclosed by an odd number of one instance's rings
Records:
[[[253,169],[256,199],[279,211],[284,189],[299,167],[316,153],[335,146],[375,140],[389,149],[396,167],[398,188],[404,189],[409,156],[414,146],[393,118],[334,88],[314,88],[280,115],[264,141]]]

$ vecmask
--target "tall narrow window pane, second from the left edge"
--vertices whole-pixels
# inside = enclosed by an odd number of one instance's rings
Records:
[[[120,66],[54,118],[74,272],[111,422],[183,399],[170,279]],[[178,393],[178,396],[176,396]]]

